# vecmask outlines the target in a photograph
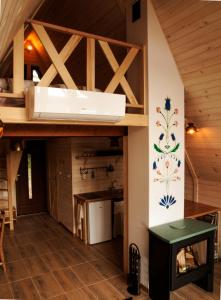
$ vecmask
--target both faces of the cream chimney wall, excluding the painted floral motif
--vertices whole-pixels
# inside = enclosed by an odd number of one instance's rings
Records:
[[[128,130],[128,211],[129,243],[138,245],[141,252],[141,283],[148,286],[148,226],[183,217],[184,174],[183,164],[179,168],[181,181],[176,189],[177,206],[166,209],[159,205],[164,194],[163,187],[154,183],[152,170],[156,154],[153,143],[158,140],[159,132],[155,128],[156,107],[164,104],[168,96],[179,109],[179,127],[174,134],[181,142],[179,156],[183,160],[184,143],[184,88],[176,64],[161,31],[151,2],[141,0],[141,18],[131,22],[131,3],[127,5],[127,40],[146,45],[148,56],[148,100],[149,128],[129,128]],[[148,10],[147,10],[148,5]],[[148,39],[147,39],[148,37]],[[132,79],[132,80],[131,80]],[[133,74],[129,80],[134,84]],[[177,117],[178,115],[176,115]],[[179,190],[179,193],[177,194]],[[159,192],[159,193],[158,193]],[[156,204],[156,205],[155,205]],[[175,205],[175,204],[174,204]],[[175,213],[175,215],[174,215]]]

